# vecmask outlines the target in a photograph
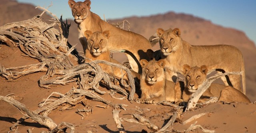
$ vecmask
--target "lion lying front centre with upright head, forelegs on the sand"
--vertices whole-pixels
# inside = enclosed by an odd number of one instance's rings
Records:
[[[181,89],[174,88],[175,83],[166,80],[164,74],[164,60],[140,60],[142,75],[140,78],[140,89],[142,91],[140,100],[146,103],[157,103],[160,101],[178,101],[181,99]]]

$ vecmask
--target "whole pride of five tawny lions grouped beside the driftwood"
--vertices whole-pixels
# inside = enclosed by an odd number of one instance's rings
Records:
[[[112,26],[91,12],[90,0],[68,0],[68,4],[78,24],[78,38],[86,62],[91,59],[120,64],[110,57],[110,52],[125,52],[134,70],[133,76],[140,79],[140,88],[136,88],[141,91],[139,102],[187,102],[212,71],[243,71],[242,75],[221,77],[224,85],[212,83],[198,102],[218,97],[218,101],[250,103],[245,95],[244,59],[238,48],[230,45],[194,46],[182,40],[179,28],[158,28],[160,50],[153,52],[150,42],[140,34]],[[120,69],[106,64],[100,66],[111,76],[123,77]],[[178,74],[184,76],[184,82],[176,81]]]

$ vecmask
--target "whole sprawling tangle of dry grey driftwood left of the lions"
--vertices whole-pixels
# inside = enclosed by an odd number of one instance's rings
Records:
[[[10,47],[18,46],[20,50],[26,54],[25,56],[35,58],[40,63],[9,68],[4,67],[4,64],[0,64],[0,75],[9,81],[14,81],[30,73],[44,71],[46,72],[46,75],[43,75],[40,78],[40,87],[50,88],[53,85],[66,85],[66,83],[73,81],[77,81],[79,86],[78,88],[70,89],[66,94],[52,93],[47,99],[39,104],[40,108],[33,112],[29,111],[28,114],[31,113],[32,115],[37,116],[41,113],[43,116],[47,117],[47,115],[54,109],[71,109],[79,103],[84,103],[84,100],[86,99],[85,97],[101,101],[115,109],[121,108],[126,110],[125,106],[127,105],[113,104],[100,97],[97,93],[106,93],[105,91],[98,89],[100,86],[99,84],[103,83],[108,86],[108,89],[113,89],[113,91],[126,96],[127,99],[132,101],[135,93],[135,84],[130,70],[124,66],[106,61],[94,61],[74,66],[70,61],[70,58],[77,61],[82,61],[83,58],[76,52],[75,45],[70,46],[67,42],[70,24],[68,24],[67,21],[63,22],[62,18],[59,20],[45,8],[37,8],[44,10],[42,14],[35,16],[30,20],[13,22],[0,27],[0,42],[3,42],[3,44]],[[42,22],[40,19],[44,12],[49,12],[54,17],[50,20],[50,24]],[[58,26],[59,30],[55,29],[54,26]],[[108,73],[104,73],[98,63],[104,63],[124,69],[129,78],[129,84],[131,86],[130,93],[127,93],[122,87],[115,85],[113,83],[115,78],[110,77]],[[52,77],[53,75],[58,76]],[[59,95],[59,98],[50,99],[52,95],[56,94]],[[114,93],[112,93],[112,97],[114,97]],[[29,117],[31,116],[24,115],[11,127],[11,129],[14,129],[21,121],[24,121]],[[62,125],[72,128],[72,132],[74,132],[74,126],[70,126],[66,123],[61,123],[58,126],[56,124],[54,126],[48,125],[48,127],[52,129],[51,132],[56,132]]]

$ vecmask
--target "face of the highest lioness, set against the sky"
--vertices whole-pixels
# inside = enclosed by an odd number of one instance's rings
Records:
[[[85,0],[84,2],[75,2],[74,0],[68,0],[68,4],[72,10],[72,15],[74,16],[74,21],[76,24],[80,24],[90,12],[90,0]]]

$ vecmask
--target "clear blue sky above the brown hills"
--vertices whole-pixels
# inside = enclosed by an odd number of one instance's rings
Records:
[[[58,17],[72,18],[68,0],[17,0],[48,7]],[[79,0],[75,0],[76,2]],[[245,32],[256,43],[256,0],[91,0],[91,11],[102,19],[149,16],[169,11],[192,14],[220,26]]]

